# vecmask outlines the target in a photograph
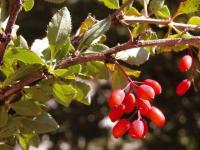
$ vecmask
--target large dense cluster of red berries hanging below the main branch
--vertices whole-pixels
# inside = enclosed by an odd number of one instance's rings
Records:
[[[165,124],[165,116],[150,103],[155,95],[161,92],[160,84],[151,79],[144,82],[132,81],[124,90],[114,90],[108,100],[111,109],[110,120],[119,120],[112,130],[113,136],[119,138],[129,131],[132,138],[144,138],[148,132],[148,124],[142,116],[149,118],[156,126],[162,127]]]

